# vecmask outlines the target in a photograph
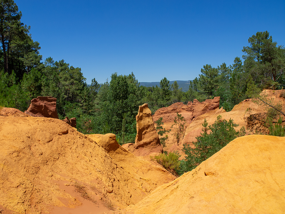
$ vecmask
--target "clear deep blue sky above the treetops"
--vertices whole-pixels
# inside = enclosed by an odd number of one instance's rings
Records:
[[[139,82],[192,80],[233,63],[258,31],[285,45],[285,1],[15,0],[43,60],[80,67],[88,84],[134,72]]]

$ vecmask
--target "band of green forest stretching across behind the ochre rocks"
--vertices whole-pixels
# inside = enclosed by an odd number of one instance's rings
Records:
[[[249,46],[242,50],[244,62],[236,57],[231,65],[214,68],[206,64],[183,92],[176,81],[170,84],[166,77],[159,86],[141,86],[133,73],[114,72],[102,84],[95,77],[88,85],[81,68],[52,57],[41,62],[40,44],[32,40],[30,26],[21,23],[21,12],[13,0],[0,1],[0,21],[0,106],[24,111],[33,98],[52,96],[57,98],[60,119],[76,117],[78,131],[111,132],[121,144],[134,142],[135,116],[144,103],[154,114],[175,102],[187,104],[220,96],[219,107],[230,111],[263,89],[285,88],[285,49],[267,31],[249,37]]]

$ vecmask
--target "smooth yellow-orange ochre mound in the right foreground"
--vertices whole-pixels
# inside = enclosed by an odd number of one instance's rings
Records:
[[[196,169],[161,185],[129,214],[284,213],[285,138],[236,138]],[[125,213],[125,212],[124,212]]]

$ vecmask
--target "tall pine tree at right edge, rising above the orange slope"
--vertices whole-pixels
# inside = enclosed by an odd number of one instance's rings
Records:
[[[243,47],[245,66],[260,88],[272,90],[284,86],[285,49],[272,41],[267,31],[249,38],[250,47]]]

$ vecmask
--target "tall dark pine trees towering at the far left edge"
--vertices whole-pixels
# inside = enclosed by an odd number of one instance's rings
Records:
[[[5,73],[22,79],[32,68],[40,68],[39,43],[29,35],[30,27],[21,23],[22,13],[13,0],[0,1],[0,37]]]

